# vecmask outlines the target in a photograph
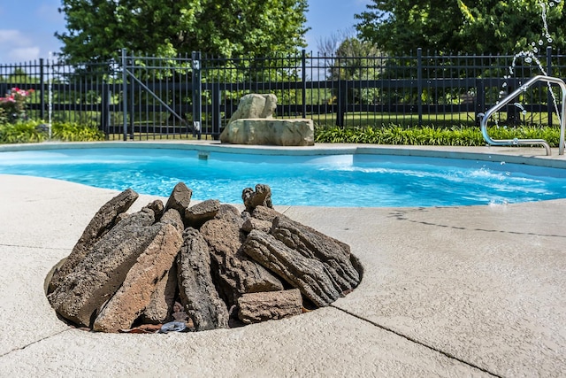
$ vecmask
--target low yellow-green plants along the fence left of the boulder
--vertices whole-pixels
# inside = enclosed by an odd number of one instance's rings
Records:
[[[28,120],[0,124],[0,143],[39,143],[49,139],[49,129],[39,121]],[[96,127],[76,123],[53,123],[51,140],[61,142],[103,141],[104,133]]]

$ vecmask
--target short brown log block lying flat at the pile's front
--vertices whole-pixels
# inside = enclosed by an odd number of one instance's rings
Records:
[[[278,320],[302,313],[299,289],[244,294],[238,298],[238,319],[244,324]]]

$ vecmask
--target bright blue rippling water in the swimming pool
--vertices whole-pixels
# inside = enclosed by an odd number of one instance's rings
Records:
[[[169,149],[0,152],[0,174],[25,174],[168,197],[179,181],[193,198],[241,204],[272,188],[273,204],[385,207],[508,204],[566,197],[566,170],[391,155],[266,156]],[[1,184],[1,182],[0,182]]]

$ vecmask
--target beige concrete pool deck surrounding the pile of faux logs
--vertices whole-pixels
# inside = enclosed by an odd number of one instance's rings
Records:
[[[280,212],[350,244],[365,269],[356,290],[245,328],[69,328],[50,308],[45,278],[116,193],[0,175],[0,376],[566,375],[566,199],[319,208],[273,198]]]

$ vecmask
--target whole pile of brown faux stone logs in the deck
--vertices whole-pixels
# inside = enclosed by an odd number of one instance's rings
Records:
[[[189,206],[180,182],[126,214],[131,189],[96,213],[48,299],[80,327],[119,332],[171,320],[188,329],[229,328],[330,305],[356,288],[361,266],[349,247],[272,208],[271,189],[244,189],[246,210],[207,200]]]

